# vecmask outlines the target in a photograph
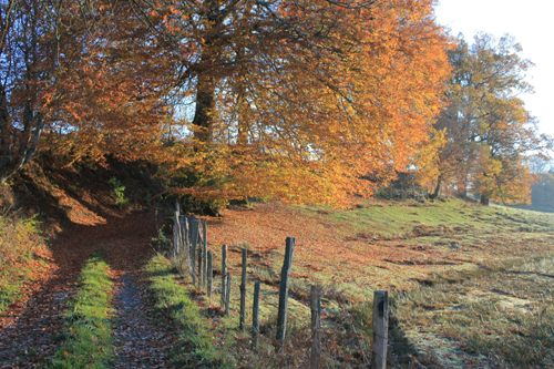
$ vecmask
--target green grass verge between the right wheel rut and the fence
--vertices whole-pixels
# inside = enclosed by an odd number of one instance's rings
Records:
[[[188,289],[175,279],[177,275],[171,262],[157,255],[145,266],[145,271],[155,307],[168,314],[179,326],[181,341],[175,347],[174,356],[177,363],[195,368],[225,367],[224,350],[214,347],[208,320],[189,298]]]

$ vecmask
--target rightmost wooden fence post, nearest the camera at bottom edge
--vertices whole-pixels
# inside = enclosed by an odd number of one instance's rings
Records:
[[[373,294],[373,355],[372,369],[387,367],[387,344],[389,339],[389,293],[376,290]]]

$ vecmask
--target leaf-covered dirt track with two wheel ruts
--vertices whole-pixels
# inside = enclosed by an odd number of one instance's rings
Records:
[[[0,368],[44,367],[58,347],[60,314],[78,286],[81,266],[91,253],[103,249],[114,280],[117,310],[115,365],[120,368],[167,368],[165,355],[173,341],[171,324],[155,317],[145,287],[138,283],[141,264],[153,250],[156,235],[152,214],[110,218],[96,226],[75,225],[52,243],[55,271],[28,284],[24,297],[0,317]],[[121,361],[121,365],[120,362]]]

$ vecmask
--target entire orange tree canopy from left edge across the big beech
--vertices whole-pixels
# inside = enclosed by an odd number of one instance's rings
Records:
[[[0,180],[45,132],[75,160],[154,161],[198,198],[369,195],[362,177],[406,167],[441,106],[449,39],[432,7],[2,1]]]

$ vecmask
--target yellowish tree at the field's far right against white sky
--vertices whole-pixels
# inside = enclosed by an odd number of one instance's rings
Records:
[[[529,199],[536,178],[526,155],[551,148],[552,141],[537,133],[519,98],[532,92],[525,81],[532,63],[521,52],[513,38],[495,40],[489,34],[478,34],[472,45],[460,35],[458,48],[450,51],[449,103],[434,124],[447,135],[434,196],[444,181],[454,181],[463,189],[471,185],[483,205],[490,199]]]

